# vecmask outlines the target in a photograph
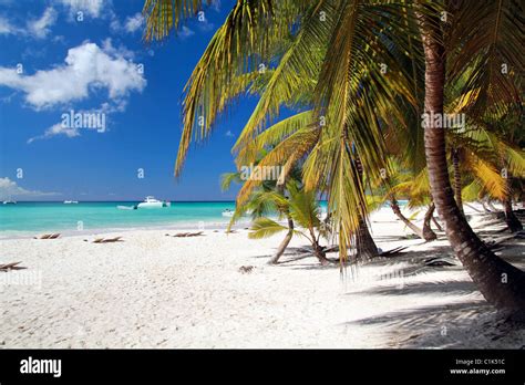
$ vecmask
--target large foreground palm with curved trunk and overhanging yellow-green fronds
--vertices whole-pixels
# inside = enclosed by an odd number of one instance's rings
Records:
[[[172,2],[175,6],[166,6]],[[165,37],[177,27],[181,14],[200,6],[198,0],[147,0],[146,39]],[[305,80],[315,79],[309,106],[312,126],[295,137],[301,138],[296,142],[299,146],[295,156],[307,156],[302,178],[306,190],[328,191],[340,256],[346,258],[360,220],[368,215],[364,186],[357,183],[356,157],[359,155],[366,175],[388,167],[383,124],[392,116],[403,122],[405,102],[418,104],[411,82],[418,66],[403,65],[411,55],[424,54],[425,113],[443,116],[445,44],[447,56],[453,58],[451,82],[465,69],[471,70],[462,94],[480,94],[469,107],[472,114],[501,110],[501,103],[519,104],[515,77],[523,63],[516,51],[521,42],[515,31],[523,30],[523,21],[514,17],[522,12],[519,4],[459,1],[451,7],[455,8],[446,11],[453,14],[453,22],[445,31],[445,41],[442,8],[430,1],[238,0],[186,85],[176,174],[192,137],[209,135],[218,114],[239,95],[239,76],[246,87],[254,81],[250,76],[258,65],[277,62],[236,144],[237,150],[278,116],[280,105],[299,100]],[[275,48],[290,34],[292,43],[275,54]],[[517,70],[503,76],[497,71],[502,59]],[[381,71],[384,67],[387,73]],[[525,274],[492,253],[461,215],[449,178],[445,135],[432,119],[425,124],[432,197],[456,256],[491,303],[523,309]]]

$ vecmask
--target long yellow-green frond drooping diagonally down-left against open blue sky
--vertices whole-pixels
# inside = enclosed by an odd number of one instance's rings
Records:
[[[302,7],[286,2],[275,8],[270,0],[237,1],[185,86],[183,134],[175,175],[181,173],[192,139],[206,138],[218,115],[243,91],[236,77],[250,73],[248,77],[256,81],[259,64],[269,62],[270,48],[288,35]],[[246,86],[246,82],[243,85]]]

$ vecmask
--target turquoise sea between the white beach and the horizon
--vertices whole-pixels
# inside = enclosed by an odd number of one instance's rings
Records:
[[[38,232],[79,233],[82,231],[144,228],[224,228],[228,217],[225,209],[235,210],[235,201],[172,202],[158,209],[123,210],[138,201],[86,201],[73,205],[63,202],[29,202],[1,205],[0,238],[34,236]],[[400,206],[405,201],[400,201]],[[326,207],[326,202],[320,202]],[[246,217],[247,222],[249,220]]]

